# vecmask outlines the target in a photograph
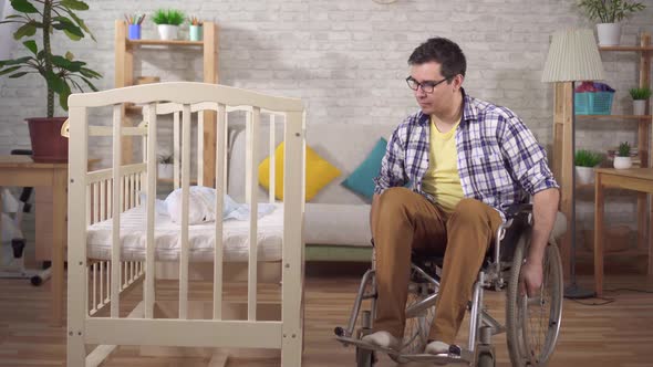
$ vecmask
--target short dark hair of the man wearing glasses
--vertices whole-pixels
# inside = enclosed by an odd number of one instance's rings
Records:
[[[442,75],[446,78],[454,77],[457,74],[465,76],[467,61],[460,46],[456,42],[444,39],[433,38],[418,45],[411,57],[410,65],[421,65],[435,61],[442,65]]]

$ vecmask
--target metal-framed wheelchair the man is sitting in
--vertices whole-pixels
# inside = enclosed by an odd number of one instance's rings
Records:
[[[546,366],[556,347],[562,315],[562,263],[553,240],[564,232],[564,220],[560,217],[557,218],[545,252],[542,286],[538,295],[529,297],[520,295],[519,273],[530,244],[532,207],[518,205],[510,208],[508,218],[511,219],[497,230],[493,247],[474,283],[471,301],[467,306],[470,313],[467,348],[452,345],[446,354],[424,354],[437,312],[435,304],[444,258],[415,253],[412,256],[406,325],[401,349],[387,349],[362,340],[364,335],[372,333],[372,321],[375,318],[377,295],[374,255],[372,269],[361,280],[346,327],[334,329],[336,340],[344,346],[355,347],[359,367],[373,366],[377,361],[376,353],[385,353],[398,364],[417,361],[494,367],[496,358],[491,337],[506,333],[512,366]],[[485,311],[483,296],[486,289],[506,291],[506,325]],[[362,311],[364,300],[370,300],[370,310]]]

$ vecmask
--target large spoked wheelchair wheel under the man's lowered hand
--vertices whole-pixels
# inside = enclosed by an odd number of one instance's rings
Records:
[[[562,262],[556,244],[547,245],[543,279],[536,297],[519,294],[519,274],[530,244],[530,230],[520,237],[508,282],[506,324],[512,366],[546,366],[556,347],[562,315]]]

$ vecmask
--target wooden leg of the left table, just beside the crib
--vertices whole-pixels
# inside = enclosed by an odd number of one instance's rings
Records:
[[[53,174],[52,192],[52,319],[51,326],[61,326],[63,321],[63,254],[66,231],[68,171],[56,169]]]

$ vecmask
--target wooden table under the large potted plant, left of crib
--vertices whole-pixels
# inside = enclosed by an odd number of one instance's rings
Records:
[[[37,164],[29,156],[0,156],[0,187],[50,186],[52,202],[52,280],[51,322],[62,325],[63,316],[63,262],[66,232],[68,164]],[[39,208],[37,207],[37,210]]]

